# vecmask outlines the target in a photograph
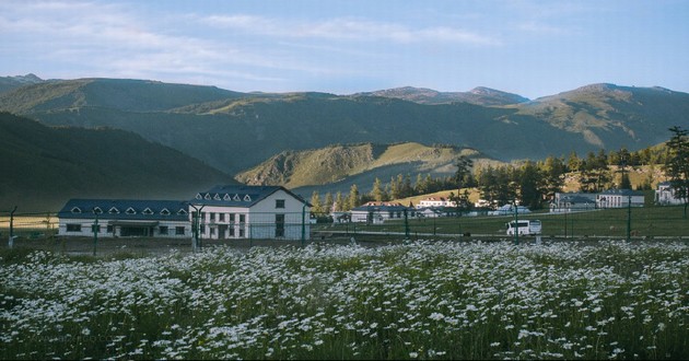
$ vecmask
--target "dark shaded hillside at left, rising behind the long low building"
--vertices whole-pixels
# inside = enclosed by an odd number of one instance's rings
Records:
[[[56,211],[74,197],[187,199],[232,177],[114,129],[50,128],[0,113],[0,210]]]

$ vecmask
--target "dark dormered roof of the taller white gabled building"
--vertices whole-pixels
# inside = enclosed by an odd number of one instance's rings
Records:
[[[296,200],[311,207],[311,205],[302,197],[281,186],[221,185],[209,190],[198,193],[194,199],[189,200],[189,202],[203,206],[248,208],[268,198],[278,190],[283,190]]]

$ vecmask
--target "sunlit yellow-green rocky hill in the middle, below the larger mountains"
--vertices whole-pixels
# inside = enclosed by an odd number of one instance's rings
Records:
[[[451,145],[423,145],[416,142],[397,144],[337,144],[305,151],[285,151],[236,176],[241,183],[283,185],[302,194],[312,189],[349,191],[352,184],[366,190],[378,177],[387,182],[398,174],[454,174],[460,155],[476,164],[498,162],[476,150]]]

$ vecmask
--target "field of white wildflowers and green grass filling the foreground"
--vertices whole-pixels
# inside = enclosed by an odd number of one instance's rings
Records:
[[[682,242],[1,256],[0,359],[689,359]]]

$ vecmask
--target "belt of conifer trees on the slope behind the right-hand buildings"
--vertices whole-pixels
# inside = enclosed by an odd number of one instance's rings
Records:
[[[679,197],[689,198],[689,140],[687,130],[670,128],[673,138],[666,147],[644,149],[630,152],[622,148],[619,151],[599,150],[588,152],[584,158],[575,152],[564,158],[548,156],[545,161],[522,161],[502,165],[477,165],[462,156],[455,165],[453,176],[433,178],[418,174],[416,182],[411,175],[399,174],[390,182],[383,184],[376,178],[369,194],[361,194],[357,185],[352,185],[348,195],[338,193],[335,197],[326,194],[322,200],[314,191],[311,203],[314,213],[329,210],[347,211],[366,201],[387,201],[411,196],[449,190],[449,199],[460,209],[470,209],[468,188],[477,188],[480,197],[490,205],[501,206],[518,200],[519,205],[530,209],[540,209],[562,191],[564,177],[572,174],[577,177],[581,191],[596,193],[609,188],[631,189],[629,171],[634,166],[665,164],[664,170],[673,179]],[[637,186],[638,190],[651,189],[652,178],[644,179]],[[455,194],[454,190],[457,193]],[[687,203],[687,201],[685,202]],[[685,207],[686,208],[686,207]]]

